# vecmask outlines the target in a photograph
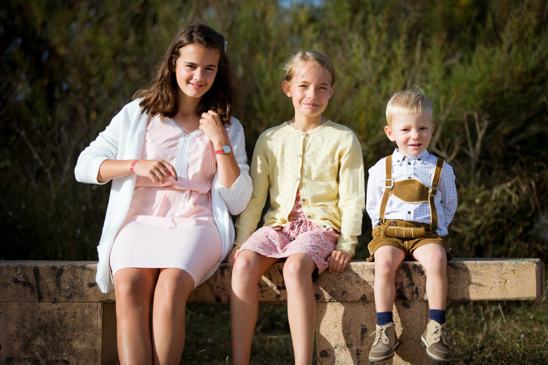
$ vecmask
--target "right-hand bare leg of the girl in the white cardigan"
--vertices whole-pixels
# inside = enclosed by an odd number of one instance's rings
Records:
[[[185,346],[186,299],[194,279],[184,270],[160,269],[152,306],[152,358],[154,364],[179,364]]]

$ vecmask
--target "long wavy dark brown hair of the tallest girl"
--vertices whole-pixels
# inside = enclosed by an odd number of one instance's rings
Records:
[[[225,37],[204,24],[191,24],[184,27],[169,45],[162,60],[158,63],[152,85],[148,89],[135,92],[134,99],[142,97],[139,103],[145,113],[174,117],[178,111],[177,80],[175,72],[169,70],[170,62],[175,65],[179,51],[188,44],[215,48],[220,51],[218,71],[211,88],[203,95],[196,113],[209,109],[220,115],[222,123],[230,124],[230,118],[241,102],[240,85],[234,67],[225,51]]]

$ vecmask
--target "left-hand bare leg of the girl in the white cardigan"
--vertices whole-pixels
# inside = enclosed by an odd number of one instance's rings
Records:
[[[121,365],[152,364],[150,305],[158,271],[123,268],[114,274],[118,358]]]

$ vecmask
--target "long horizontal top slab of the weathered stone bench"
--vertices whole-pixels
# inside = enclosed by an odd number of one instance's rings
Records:
[[[1,261],[0,303],[97,303],[115,301],[95,284],[92,261]],[[286,303],[277,263],[259,282],[261,303]],[[417,262],[404,262],[396,273],[396,301],[424,301],[426,277]],[[232,270],[221,264],[191,293],[189,303],[229,303]],[[318,302],[372,302],[374,264],[352,261],[343,273],[315,275]],[[544,264],[539,259],[463,259],[448,263],[448,300],[536,299],[544,292]]]

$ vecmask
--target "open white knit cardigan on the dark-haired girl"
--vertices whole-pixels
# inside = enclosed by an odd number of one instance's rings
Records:
[[[148,118],[148,115],[142,112],[139,106],[140,102],[141,99],[137,99],[124,106],[116,117],[112,118],[109,126],[99,134],[96,140],[82,151],[75,169],[75,176],[79,182],[105,184],[106,182],[100,183],[97,181],[99,167],[103,161],[107,159],[133,160],[139,158]],[[229,212],[232,215],[241,213],[246,208],[253,190],[253,184],[249,177],[246,142],[242,124],[237,119],[232,118],[230,125],[226,126],[226,131],[240,169],[240,175],[230,189],[219,183],[219,173],[215,173],[213,178],[211,196],[213,216],[222,240],[221,259],[198,285],[213,275],[221,261],[229,256],[234,243],[234,225]],[[109,262],[110,251],[118,230],[129,211],[135,188],[135,178],[136,175],[129,174],[112,179],[105,224],[99,246],[97,246],[99,263],[97,264],[95,281],[103,293],[108,293],[114,289]]]

